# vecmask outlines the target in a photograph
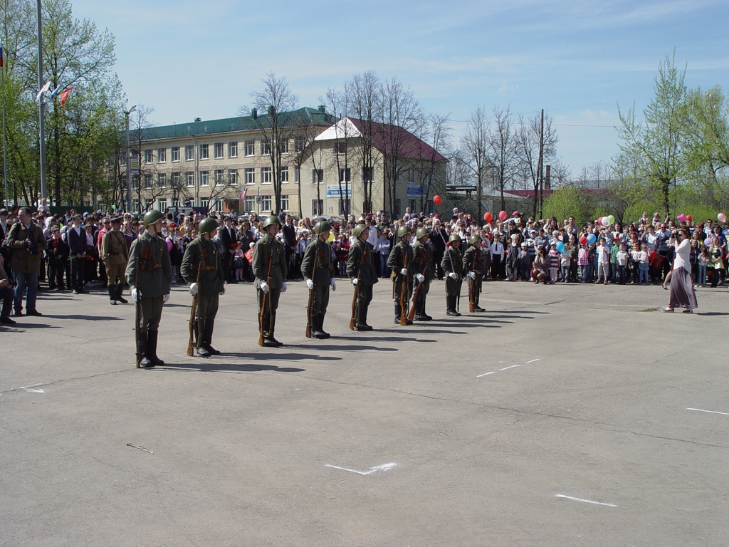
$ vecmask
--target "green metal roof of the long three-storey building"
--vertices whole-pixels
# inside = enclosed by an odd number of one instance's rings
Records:
[[[278,115],[283,117],[287,126],[306,125],[332,125],[337,118],[330,114],[321,112],[319,109],[303,108],[282,112]],[[281,121],[279,120],[279,124]],[[142,130],[141,138],[144,140],[175,139],[186,136],[205,136],[216,133],[229,133],[230,131],[260,131],[261,128],[270,127],[268,113],[263,112],[252,116],[227,117],[222,120],[203,120],[200,122],[176,123],[174,125],[159,125],[157,127],[145,128]]]

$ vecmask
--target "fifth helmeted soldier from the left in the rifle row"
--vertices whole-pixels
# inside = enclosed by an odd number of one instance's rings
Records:
[[[367,241],[370,237],[370,228],[362,222],[352,230],[357,241],[349,247],[347,257],[347,276],[356,286],[356,302],[354,304],[354,328],[356,330],[372,330],[367,325],[367,309],[372,302],[373,286],[378,282],[377,271],[374,265],[374,250]]]

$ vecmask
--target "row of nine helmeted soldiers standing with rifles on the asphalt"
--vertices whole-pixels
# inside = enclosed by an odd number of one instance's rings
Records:
[[[157,357],[157,335],[163,305],[170,295],[172,275],[168,247],[160,236],[162,220],[163,214],[158,211],[148,212],[144,216],[144,233],[133,241],[125,268],[130,294],[136,304],[137,365],[141,367],[163,364]],[[283,244],[276,238],[281,229],[278,217],[272,215],[266,218],[262,227],[264,234],[255,244],[252,260],[258,304],[259,344],[279,347],[283,344],[276,340],[274,333],[278,303],[281,293],[286,292],[286,254]],[[219,295],[225,293],[222,258],[217,245],[211,241],[217,228],[218,223],[212,218],[200,222],[199,235],[187,245],[180,268],[193,297],[187,352],[200,357],[220,354],[211,346]],[[301,263],[309,290],[306,336],[324,339],[330,337],[324,330],[330,290],[337,290],[329,243],[332,227],[322,220],[316,223],[313,231],[316,238],[306,248]],[[346,262],[346,274],[354,286],[349,323],[351,330],[373,330],[367,324],[367,311],[378,274],[374,264],[376,255],[372,244],[367,241],[369,232],[370,228],[366,224],[356,225],[353,230],[356,242],[350,246]],[[412,230],[407,225],[399,227],[398,242],[391,249],[387,261],[393,281],[395,323],[399,325],[412,325],[413,320],[432,320],[426,313],[426,297],[435,277],[432,249],[428,244],[430,233],[426,228],[418,228],[415,242],[411,245],[412,236]],[[461,238],[456,234],[449,238],[440,265],[447,276],[446,313],[450,316],[461,315],[458,300],[464,279],[468,279],[469,284],[469,311],[484,311],[478,306],[481,279],[486,273],[481,243],[480,236],[472,236],[469,249],[461,255]],[[109,274],[109,283],[112,283],[112,279],[116,282],[115,272],[109,271]]]

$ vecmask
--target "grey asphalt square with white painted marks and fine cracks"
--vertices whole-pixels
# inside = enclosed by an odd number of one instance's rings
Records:
[[[660,287],[488,282],[485,314],[371,333],[332,294],[308,339],[289,284],[257,345],[229,285],[187,357],[174,287],[151,370],[133,305],[42,292],[0,329],[2,546],[726,546],[726,288],[661,314]]]

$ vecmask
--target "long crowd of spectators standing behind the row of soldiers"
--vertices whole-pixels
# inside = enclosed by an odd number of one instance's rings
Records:
[[[139,217],[125,213],[121,232],[130,247],[139,233]],[[15,315],[40,314],[35,309],[36,291],[71,290],[81,294],[92,287],[106,287],[106,270],[100,261],[101,239],[111,227],[112,216],[103,212],[78,214],[70,209],[65,214],[50,214],[47,208],[32,213],[13,207],[0,211],[0,322]],[[165,211],[162,233],[170,249],[173,282],[184,283],[179,275],[184,249],[198,233],[196,227],[206,215]],[[256,214],[217,214],[221,226],[214,240],[222,252],[225,282],[252,282],[252,249],[262,236],[262,220]],[[503,215],[502,215],[503,217]],[[301,277],[300,264],[304,250],[313,236],[313,225],[319,217],[296,219],[282,214],[278,237],[286,249],[289,279]],[[379,256],[375,261],[378,275],[388,277],[386,266],[394,233],[407,224],[413,234],[424,226],[431,232],[433,267],[437,279],[444,273],[440,261],[448,238],[456,233],[463,240],[461,252],[468,248],[474,234],[483,238],[483,250],[490,259],[488,277],[505,281],[554,283],[664,284],[671,270],[677,230],[687,228],[691,234],[690,263],[695,287],[725,281],[729,222],[712,220],[681,222],[658,213],[644,213],[636,222],[614,222],[602,225],[590,221],[577,225],[574,217],[562,222],[556,218],[534,220],[518,212],[504,220],[478,222],[471,214],[453,209],[453,214],[415,214],[408,209],[402,218],[392,220],[383,212],[359,218],[330,219],[333,226],[330,241],[335,273],[345,275],[348,250],[355,239],[352,230],[357,222],[370,227],[369,241]],[[28,241],[13,240],[12,227],[30,230]],[[34,228],[37,227],[37,228]],[[42,234],[42,235],[41,235]],[[16,234],[17,236],[17,234]],[[413,235],[414,238],[414,235]],[[33,240],[33,241],[31,241]],[[16,247],[15,249],[13,247]]]

